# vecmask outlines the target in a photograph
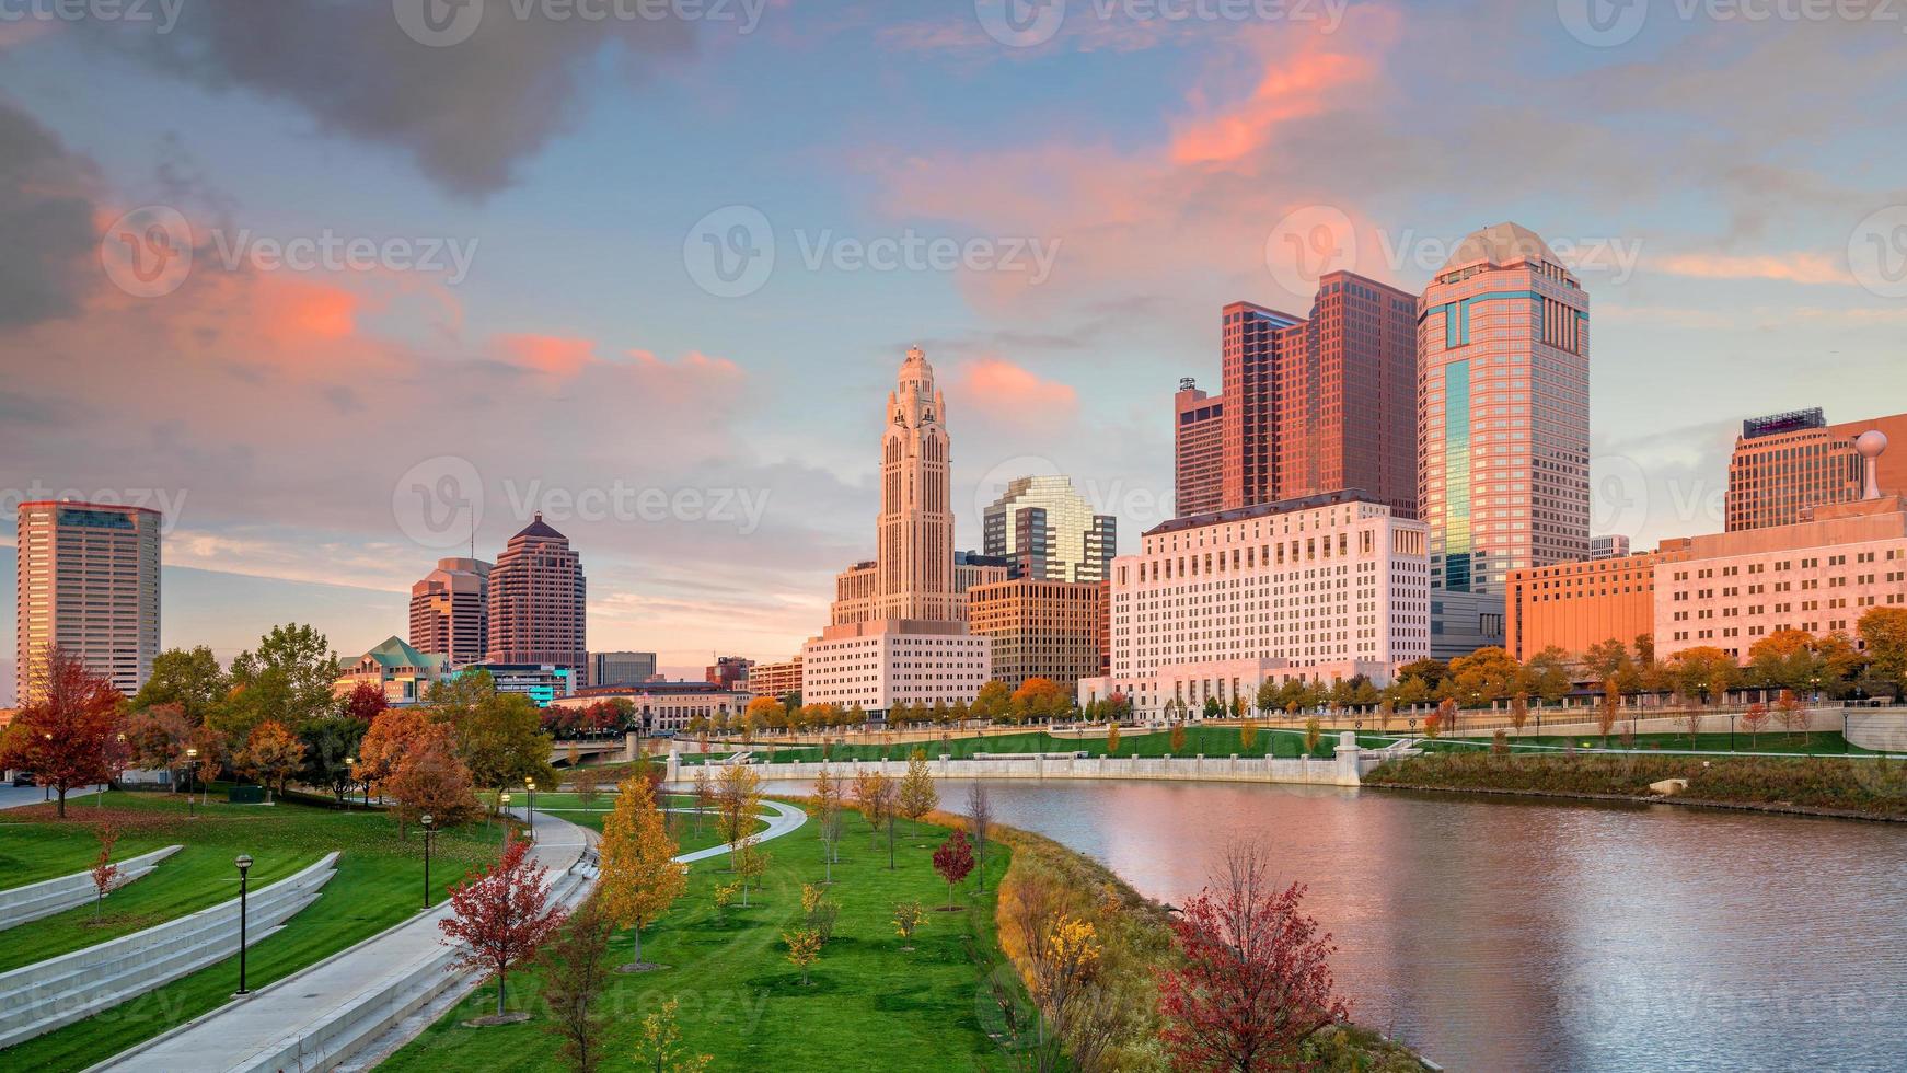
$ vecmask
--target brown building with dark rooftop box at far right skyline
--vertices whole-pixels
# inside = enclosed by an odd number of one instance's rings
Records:
[[[1728,532],[1791,526],[1815,507],[1859,499],[1863,469],[1854,440],[1871,429],[1907,442],[1907,414],[1829,425],[1814,408],[1743,421],[1728,459]],[[1907,452],[1897,454],[1880,459],[1884,492],[1907,492]]]

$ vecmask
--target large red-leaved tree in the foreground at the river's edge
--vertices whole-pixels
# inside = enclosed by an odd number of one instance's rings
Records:
[[[1299,911],[1304,888],[1276,890],[1255,848],[1226,854],[1173,921],[1184,966],[1159,976],[1161,1039],[1175,1069],[1291,1069],[1318,1029],[1350,1016],[1331,983],[1329,934]]]

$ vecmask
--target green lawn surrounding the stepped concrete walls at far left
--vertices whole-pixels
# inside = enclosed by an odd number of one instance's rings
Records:
[[[42,861],[50,867],[50,875],[84,871],[97,852],[97,840],[84,823],[97,820],[101,812],[88,804],[84,810],[69,806],[67,814],[69,820],[59,823],[51,820],[51,806],[0,812],[0,846],[10,858]],[[147,903],[151,913],[172,913],[183,905],[210,903],[221,896],[231,898],[238,884],[227,882],[227,879],[236,879],[231,861],[240,852],[252,854],[259,861],[252,869],[252,881],[269,882],[330,850],[343,850],[338,860],[338,875],[324,888],[324,894],[292,917],[284,930],[252,947],[248,959],[248,983],[252,987],[271,983],[374,936],[416,913],[421,903],[421,842],[416,831],[412,831],[410,840],[399,840],[397,825],[383,814],[339,812],[301,802],[278,802],[269,808],[236,806],[223,804],[214,793],[212,804],[200,806],[196,820],[187,820],[183,795],[113,793],[105,802],[103,816],[113,818],[126,831],[120,846],[145,842],[185,846],[158,871],[128,886],[120,896],[109,898],[107,905],[113,911],[139,905],[135,898],[141,896],[151,900]],[[133,840],[133,833],[137,833],[139,842]],[[460,881],[469,867],[494,856],[494,846],[500,840],[502,829],[482,823],[441,833],[431,850],[433,901],[441,901],[446,888]],[[177,884],[151,886],[153,894],[141,894],[147,884],[160,884],[168,869],[177,869]],[[261,873],[261,869],[267,871]],[[195,882],[214,888],[212,894],[191,892]],[[166,890],[172,890],[170,903]],[[160,909],[162,905],[172,909]],[[59,943],[57,936],[86,934],[90,941],[97,941],[118,934],[111,928],[84,932],[82,921],[90,913],[90,909],[65,913],[59,919],[50,917],[0,934],[8,964],[34,961],[15,955],[15,943],[31,943],[34,949],[57,953],[53,949]],[[135,926],[128,924],[120,930],[135,930]],[[235,955],[118,1008],[8,1048],[0,1052],[0,1067],[82,1069],[223,1004],[231,999],[236,983],[238,959]]]

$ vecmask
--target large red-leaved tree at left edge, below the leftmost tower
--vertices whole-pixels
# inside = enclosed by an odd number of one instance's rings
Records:
[[[51,646],[34,661],[29,696],[36,699],[0,732],[0,768],[32,772],[34,785],[53,787],[55,814],[65,820],[67,793],[126,770],[124,698],[76,654]]]

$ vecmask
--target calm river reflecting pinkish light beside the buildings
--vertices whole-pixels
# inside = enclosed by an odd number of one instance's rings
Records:
[[[1907,1067],[1907,827],[1297,785],[988,791],[1001,823],[1161,901],[1257,842],[1308,884],[1354,1018],[1447,1069]],[[965,799],[940,785],[944,808]]]

